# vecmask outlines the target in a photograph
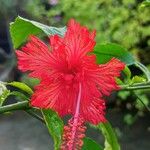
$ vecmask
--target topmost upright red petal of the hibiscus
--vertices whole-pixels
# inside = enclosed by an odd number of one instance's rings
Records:
[[[78,61],[87,52],[91,52],[96,43],[94,38],[95,31],[90,33],[86,27],[71,19],[64,37],[68,59],[71,62]]]

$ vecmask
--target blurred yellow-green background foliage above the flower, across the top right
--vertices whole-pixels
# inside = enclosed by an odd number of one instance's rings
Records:
[[[97,30],[97,42],[115,42],[131,50],[137,59],[149,64],[150,9],[139,7],[142,0],[30,0],[26,10],[53,26],[75,18]],[[44,1],[43,1],[44,3]],[[48,5],[49,4],[49,5]],[[40,6],[40,7],[39,7]],[[44,19],[45,18],[45,19]]]

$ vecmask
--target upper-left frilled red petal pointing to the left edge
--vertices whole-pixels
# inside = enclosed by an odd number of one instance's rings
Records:
[[[22,47],[22,51],[17,50],[16,54],[21,71],[30,71],[30,76],[36,78],[48,76],[51,70],[51,54],[47,45],[37,37],[30,36],[29,42]]]

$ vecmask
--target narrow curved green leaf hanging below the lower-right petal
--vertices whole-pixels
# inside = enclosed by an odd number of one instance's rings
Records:
[[[102,131],[105,137],[104,150],[120,150],[115,131],[111,127],[110,123],[100,123],[97,127]]]

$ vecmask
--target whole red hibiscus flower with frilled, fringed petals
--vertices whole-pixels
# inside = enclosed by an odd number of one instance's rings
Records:
[[[31,105],[53,109],[60,116],[71,114],[73,118],[64,130],[66,133],[71,130],[72,139],[77,131],[84,130],[83,122],[105,121],[103,96],[118,89],[115,78],[124,69],[124,63],[115,58],[107,64],[96,64],[92,53],[94,38],[95,31],[89,32],[72,19],[64,37],[50,36],[50,46],[30,36],[22,51],[16,51],[19,69],[29,71],[31,77],[41,81],[35,88]],[[78,141],[78,145],[82,143]],[[71,146],[68,149],[71,150]]]

